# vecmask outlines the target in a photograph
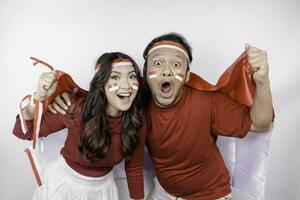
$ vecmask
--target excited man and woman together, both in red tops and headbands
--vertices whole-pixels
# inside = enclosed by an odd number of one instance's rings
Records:
[[[68,136],[34,198],[118,199],[112,168],[125,159],[130,197],[143,199],[146,144],[156,171],[147,199],[230,199],[230,177],[217,136],[266,131],[273,117],[266,53],[249,45],[246,52],[256,84],[251,107],[221,92],[185,85],[192,54],[178,34],[157,37],[146,47],[147,84],[129,56],[103,54],[87,95],[70,100],[64,93],[43,114],[40,136],[63,128]],[[42,74],[33,98],[45,100],[56,85],[56,72]],[[23,134],[17,117],[14,134],[32,139],[32,106],[22,114],[28,132]]]

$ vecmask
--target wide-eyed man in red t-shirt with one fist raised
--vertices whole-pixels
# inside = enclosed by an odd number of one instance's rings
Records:
[[[246,51],[256,84],[251,107],[221,92],[185,85],[192,54],[182,36],[166,34],[146,47],[144,76],[152,95],[147,147],[156,171],[149,200],[230,199],[230,177],[217,136],[242,138],[250,130],[266,131],[273,116],[266,52],[249,45]],[[67,102],[67,95],[62,96]],[[54,108],[62,110],[63,102],[58,97]]]

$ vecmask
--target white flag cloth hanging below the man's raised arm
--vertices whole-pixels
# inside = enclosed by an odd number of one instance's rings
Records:
[[[254,200],[265,199],[266,168],[272,128],[249,132],[245,138],[219,137],[218,146],[229,170],[232,187]]]

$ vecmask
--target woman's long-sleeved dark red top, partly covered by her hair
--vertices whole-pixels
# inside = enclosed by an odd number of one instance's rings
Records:
[[[121,128],[122,117],[108,117],[108,127],[111,133],[111,151],[105,159],[96,160],[92,163],[84,161],[78,150],[80,134],[82,131],[81,125],[81,110],[83,98],[76,102],[78,112],[74,115],[74,120],[70,121],[70,116],[53,114],[44,112],[41,121],[39,136],[47,137],[64,128],[68,128],[68,135],[64,147],[61,149],[61,154],[65,158],[68,165],[80,174],[91,177],[99,177],[108,174],[113,166],[119,164],[124,155],[121,149]],[[33,120],[26,121],[29,131],[23,134],[21,121],[17,116],[13,134],[21,139],[32,139]],[[139,199],[144,197],[143,186],[143,159],[144,159],[144,144],[147,123],[143,123],[143,127],[139,131],[140,144],[134,151],[132,158],[125,162],[127,182],[130,192],[130,197]]]

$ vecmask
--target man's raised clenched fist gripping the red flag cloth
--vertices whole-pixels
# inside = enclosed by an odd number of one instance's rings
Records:
[[[267,52],[256,47],[245,45],[248,56],[248,62],[251,65],[254,74],[253,79],[256,84],[266,84],[268,82],[269,66]]]

